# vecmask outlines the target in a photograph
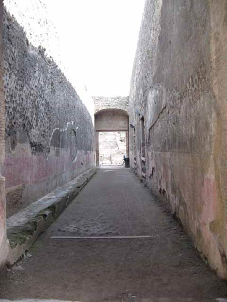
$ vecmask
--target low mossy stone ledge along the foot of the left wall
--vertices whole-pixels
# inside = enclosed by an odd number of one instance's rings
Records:
[[[9,240],[9,251],[7,265],[13,265],[25,255],[39,234],[54,222],[96,172],[97,169],[91,169],[83,173],[73,181],[58,187],[40,200],[29,205],[20,213],[8,218],[7,238]]]

